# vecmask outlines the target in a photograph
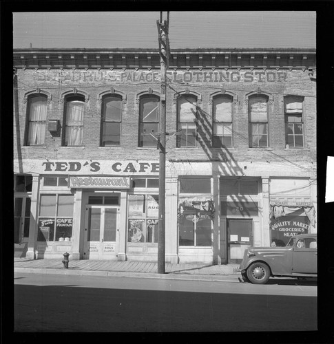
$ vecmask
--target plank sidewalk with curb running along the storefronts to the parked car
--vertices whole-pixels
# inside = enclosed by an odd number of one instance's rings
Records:
[[[103,277],[140,277],[155,279],[190,279],[195,281],[237,281],[238,264],[165,264],[165,274],[158,274],[158,264],[147,261],[73,260],[64,268],[62,259],[14,258],[14,272],[55,275],[90,275]]]

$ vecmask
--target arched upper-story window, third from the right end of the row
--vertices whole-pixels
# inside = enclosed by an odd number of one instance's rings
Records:
[[[213,98],[213,147],[232,147],[232,97]]]

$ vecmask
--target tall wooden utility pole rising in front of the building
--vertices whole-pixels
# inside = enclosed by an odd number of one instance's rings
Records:
[[[163,21],[163,12],[160,12],[160,20],[156,21],[158,26],[158,41],[160,54],[160,135],[159,147],[159,222],[158,222],[158,274],[165,273],[165,195],[166,195],[166,70],[169,64],[169,41],[167,20]]]

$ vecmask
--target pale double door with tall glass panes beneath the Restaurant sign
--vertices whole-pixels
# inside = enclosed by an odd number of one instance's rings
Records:
[[[89,205],[85,211],[84,259],[116,259],[119,207]]]

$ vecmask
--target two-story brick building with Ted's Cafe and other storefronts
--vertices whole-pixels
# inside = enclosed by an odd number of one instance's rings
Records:
[[[316,233],[315,50],[172,50],[166,261]],[[156,261],[158,50],[14,50],[14,252]]]

